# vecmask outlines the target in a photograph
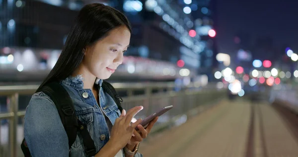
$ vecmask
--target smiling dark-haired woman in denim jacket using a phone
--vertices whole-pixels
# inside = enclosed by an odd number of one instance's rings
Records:
[[[95,157],[142,157],[138,144],[147,137],[155,118],[145,129],[131,120],[143,109],[120,113],[115,101],[100,88],[122,64],[130,43],[131,26],[124,14],[100,3],[85,5],[78,13],[55,67],[41,84],[60,81],[70,94],[78,119],[87,125]],[[139,127],[137,132],[135,127]],[[57,108],[43,92],[33,94],[26,109],[24,137],[32,157],[85,157],[77,136],[71,147]]]

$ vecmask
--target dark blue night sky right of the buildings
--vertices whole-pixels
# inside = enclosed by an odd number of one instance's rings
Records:
[[[288,44],[298,53],[297,0],[217,0],[216,7],[219,53],[233,53],[238,31],[270,36],[279,49]]]

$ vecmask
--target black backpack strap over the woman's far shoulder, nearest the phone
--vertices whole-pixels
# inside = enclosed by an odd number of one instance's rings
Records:
[[[118,95],[113,85],[107,81],[102,81],[101,86],[104,89],[104,91],[106,91],[114,99],[118,109],[120,110],[120,112],[122,112],[123,108],[121,106],[121,102],[123,102],[123,99]]]

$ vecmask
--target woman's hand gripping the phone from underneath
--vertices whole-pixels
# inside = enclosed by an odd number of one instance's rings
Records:
[[[134,129],[134,134],[133,136],[131,136],[131,139],[130,141],[127,143],[127,148],[131,151],[133,151],[133,149],[135,148],[135,146],[143,141],[143,139],[147,138],[148,134],[150,133],[153,125],[155,124],[155,122],[157,121],[158,117],[155,117],[149,124],[148,126],[146,127],[146,129],[141,125],[139,124],[138,125],[138,128],[139,128],[139,131],[137,131],[136,129]]]

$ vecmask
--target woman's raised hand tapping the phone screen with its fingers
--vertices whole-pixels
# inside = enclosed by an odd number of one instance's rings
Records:
[[[115,120],[111,131],[110,142],[113,144],[113,147],[121,150],[127,145],[127,143],[129,143],[135,128],[141,123],[142,120],[138,119],[135,123],[131,123],[131,121],[133,117],[142,109],[143,106],[137,106],[130,109],[127,113],[124,109],[122,110],[120,117]]]

